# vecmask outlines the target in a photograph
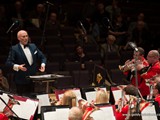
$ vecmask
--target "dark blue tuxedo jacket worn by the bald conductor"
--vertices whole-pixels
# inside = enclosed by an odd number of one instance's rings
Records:
[[[14,71],[14,80],[16,84],[28,84],[31,82],[31,80],[27,79],[26,76],[30,75],[35,75],[36,72],[38,71],[38,64],[37,63],[45,63],[46,64],[46,57],[44,54],[36,47],[35,44],[30,43],[28,45],[32,58],[33,58],[33,63],[30,65],[28,63],[28,60],[25,56],[25,53],[23,52],[23,49],[20,44],[16,44],[11,47],[11,50],[9,52],[6,65],[9,67],[14,66],[14,64],[25,64],[25,67],[27,68],[27,71]]]

